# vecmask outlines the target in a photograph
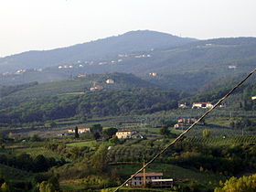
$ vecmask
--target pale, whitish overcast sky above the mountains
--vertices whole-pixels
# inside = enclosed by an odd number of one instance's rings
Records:
[[[0,57],[155,30],[256,37],[255,0],[0,0]]]

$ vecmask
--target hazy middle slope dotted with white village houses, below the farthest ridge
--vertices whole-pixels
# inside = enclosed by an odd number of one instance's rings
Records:
[[[148,32],[131,32],[116,38],[124,39],[134,33]],[[161,42],[162,38],[158,38]],[[112,40],[108,41],[108,45],[112,45]],[[175,48],[165,47],[133,53],[123,52],[105,59],[80,58],[79,61],[65,65],[17,71],[0,75],[1,84],[12,85],[31,81],[42,83],[73,79],[80,74],[125,72],[133,73],[163,89],[197,91],[216,80],[236,78],[255,68],[255,37],[218,38],[194,41]],[[149,75],[153,72],[157,73],[155,77]]]

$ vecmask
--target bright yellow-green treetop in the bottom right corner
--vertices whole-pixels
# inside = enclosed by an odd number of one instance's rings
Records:
[[[214,192],[254,192],[256,191],[256,175],[242,176],[236,178],[232,176],[227,180],[223,187],[215,188]]]

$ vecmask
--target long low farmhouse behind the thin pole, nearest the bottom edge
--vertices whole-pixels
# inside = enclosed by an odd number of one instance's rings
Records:
[[[143,187],[145,184],[151,184],[151,187],[173,187],[172,178],[162,177],[163,173],[139,173],[131,179],[128,186]]]

